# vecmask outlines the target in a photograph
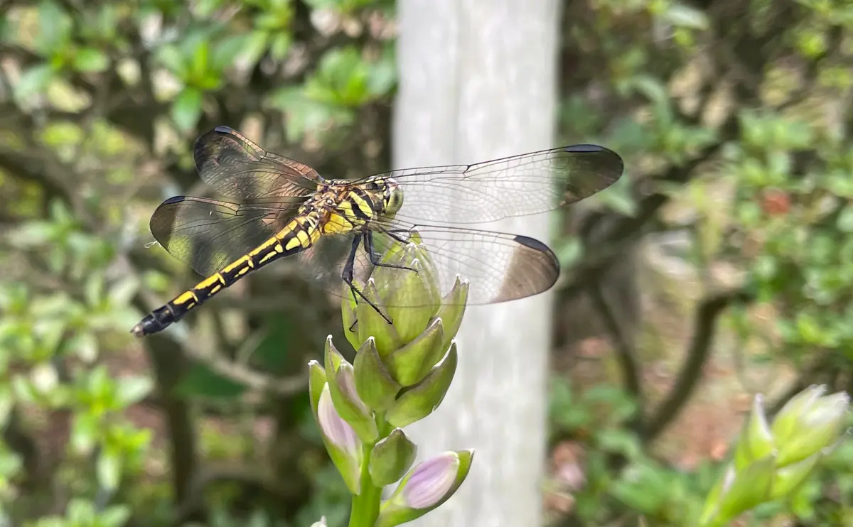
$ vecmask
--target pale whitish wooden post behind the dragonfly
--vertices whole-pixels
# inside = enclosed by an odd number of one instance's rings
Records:
[[[400,0],[397,10],[397,168],[555,146],[557,0]],[[485,227],[548,242],[548,215]],[[469,306],[456,379],[411,436],[419,459],[476,449],[472,471],[456,496],[413,525],[542,523],[549,302],[545,294]]]

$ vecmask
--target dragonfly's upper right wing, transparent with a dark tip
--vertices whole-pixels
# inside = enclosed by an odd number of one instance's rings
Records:
[[[403,189],[397,218],[411,223],[483,223],[551,211],[588,198],[622,177],[612,150],[572,145],[475,165],[378,174]],[[366,178],[368,179],[368,178]]]

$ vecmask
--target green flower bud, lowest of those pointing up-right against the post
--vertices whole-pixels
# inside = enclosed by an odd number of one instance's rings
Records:
[[[421,382],[404,389],[397,397],[397,401],[386,414],[388,423],[402,428],[432,414],[450,388],[457,362],[456,342],[453,342],[444,359],[438,362]]]

